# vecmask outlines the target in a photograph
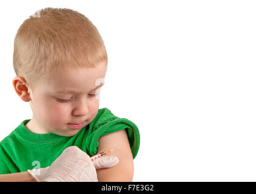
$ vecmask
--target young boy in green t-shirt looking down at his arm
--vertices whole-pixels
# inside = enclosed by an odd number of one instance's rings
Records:
[[[0,142],[0,174],[45,168],[77,146],[89,156],[114,148],[115,167],[97,170],[99,181],[132,181],[140,146],[136,125],[99,108],[107,53],[96,27],[81,13],[44,8],[15,36],[15,92],[29,102],[26,119]]]

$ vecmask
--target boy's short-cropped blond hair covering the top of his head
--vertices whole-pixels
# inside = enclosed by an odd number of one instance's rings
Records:
[[[30,85],[53,68],[95,67],[99,62],[107,63],[107,52],[97,28],[68,8],[39,10],[39,17],[26,19],[15,36],[13,67]]]

